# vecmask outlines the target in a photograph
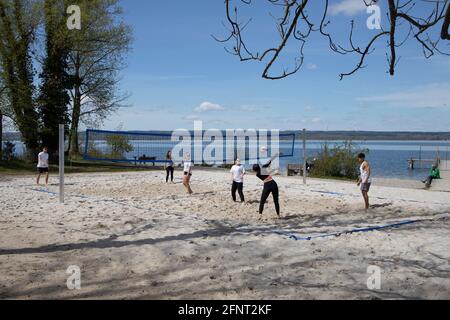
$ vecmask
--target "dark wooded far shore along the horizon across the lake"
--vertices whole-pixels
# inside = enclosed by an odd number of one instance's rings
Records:
[[[170,133],[171,131],[124,131],[135,133]],[[302,138],[303,133],[299,130],[283,130],[281,134],[295,133],[297,138]],[[84,134],[84,132],[80,132]],[[308,140],[358,140],[358,141],[446,141],[450,140],[450,132],[420,132],[420,131],[308,131]],[[20,140],[17,132],[4,132],[3,140]]]

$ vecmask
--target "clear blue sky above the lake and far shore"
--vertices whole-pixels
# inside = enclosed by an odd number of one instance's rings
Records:
[[[355,6],[360,1],[331,2],[330,30],[342,43],[347,44],[352,19],[361,44],[376,32],[365,26],[368,15]],[[425,60],[414,41],[399,49],[395,77],[386,73],[382,40],[364,70],[339,81],[358,57],[332,53],[323,38],[314,36],[305,47],[303,68],[288,79],[270,81],[261,78],[264,64],[240,62],[211,37],[226,34],[222,0],[121,3],[134,30],[122,81],[132,107],[111,116],[104,129],[120,124],[124,130],[191,129],[193,120],[201,119],[205,129],[450,130],[450,57]],[[252,8],[250,46],[274,45],[267,7]],[[383,7],[382,12],[385,20]],[[291,61],[296,45],[290,43],[284,62]]]

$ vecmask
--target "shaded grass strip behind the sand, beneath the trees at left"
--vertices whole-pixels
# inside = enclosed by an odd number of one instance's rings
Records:
[[[102,162],[88,162],[83,160],[67,161],[65,165],[66,173],[84,172],[126,172],[155,170],[157,167],[134,166],[132,164],[114,164]],[[22,160],[0,161],[0,174],[3,175],[24,175],[36,173],[36,164]],[[58,166],[50,165],[51,172],[58,172]]]

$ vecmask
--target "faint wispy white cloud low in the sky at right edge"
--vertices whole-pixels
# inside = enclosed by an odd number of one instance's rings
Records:
[[[390,94],[357,98],[360,102],[394,107],[450,108],[450,83],[432,83]]]

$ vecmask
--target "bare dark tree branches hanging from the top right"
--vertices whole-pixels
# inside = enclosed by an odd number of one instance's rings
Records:
[[[377,0],[360,0],[362,6],[373,6],[380,1]],[[364,68],[367,56],[375,49],[375,43],[380,38],[386,36],[388,38],[388,53],[387,60],[389,65],[389,74],[394,75],[396,66],[399,62],[397,50],[402,47],[410,38],[413,38],[421,46],[424,56],[429,58],[435,53],[447,55],[439,48],[439,40],[450,40],[449,25],[450,25],[450,1],[449,0],[386,0],[388,7],[388,21],[386,29],[381,29],[381,32],[374,35],[368,40],[367,44],[362,46],[356,45],[353,40],[355,32],[355,23],[351,21],[351,31],[349,35],[349,48],[334,41],[333,36],[327,27],[330,25],[328,12],[330,3],[328,0],[323,1],[308,1],[308,0],[266,0],[266,3],[272,5],[273,10],[269,12],[270,16],[275,20],[275,28],[279,35],[277,45],[268,46],[261,52],[254,52],[247,45],[244,39],[244,33],[253,22],[253,18],[241,19],[239,16],[238,4],[242,6],[252,6],[256,1],[253,0],[225,0],[226,12],[226,29],[229,34],[223,39],[213,36],[216,41],[220,43],[233,43],[232,47],[225,47],[226,52],[239,57],[240,61],[258,61],[264,62],[265,67],[262,72],[262,77],[270,80],[277,80],[286,78],[292,74],[297,73],[304,62],[304,48],[312,33],[318,32],[327,41],[331,52],[340,55],[353,54],[360,56],[355,69],[350,72],[340,74],[340,78],[356,73],[359,69]],[[262,1],[258,2],[260,4]],[[234,4],[234,5],[233,5]],[[319,12],[321,12],[320,20],[314,21],[309,17],[308,10],[313,8],[313,5],[319,4]],[[421,14],[419,17],[413,15],[413,9],[421,4],[422,8],[429,8],[428,14]],[[281,14],[275,14],[280,12]],[[320,11],[321,10],[321,11]],[[311,9],[311,11],[313,11]],[[430,33],[435,31],[435,27],[442,23],[442,29],[439,31],[439,39],[433,40]],[[406,25],[405,36],[403,26]],[[402,27],[402,28],[400,28]],[[402,40],[399,41],[398,38]],[[404,38],[404,39],[403,39]],[[298,42],[297,56],[294,59],[294,65],[287,69],[282,69],[276,72],[275,65],[281,61],[281,55],[286,51],[287,44],[290,41]]]

